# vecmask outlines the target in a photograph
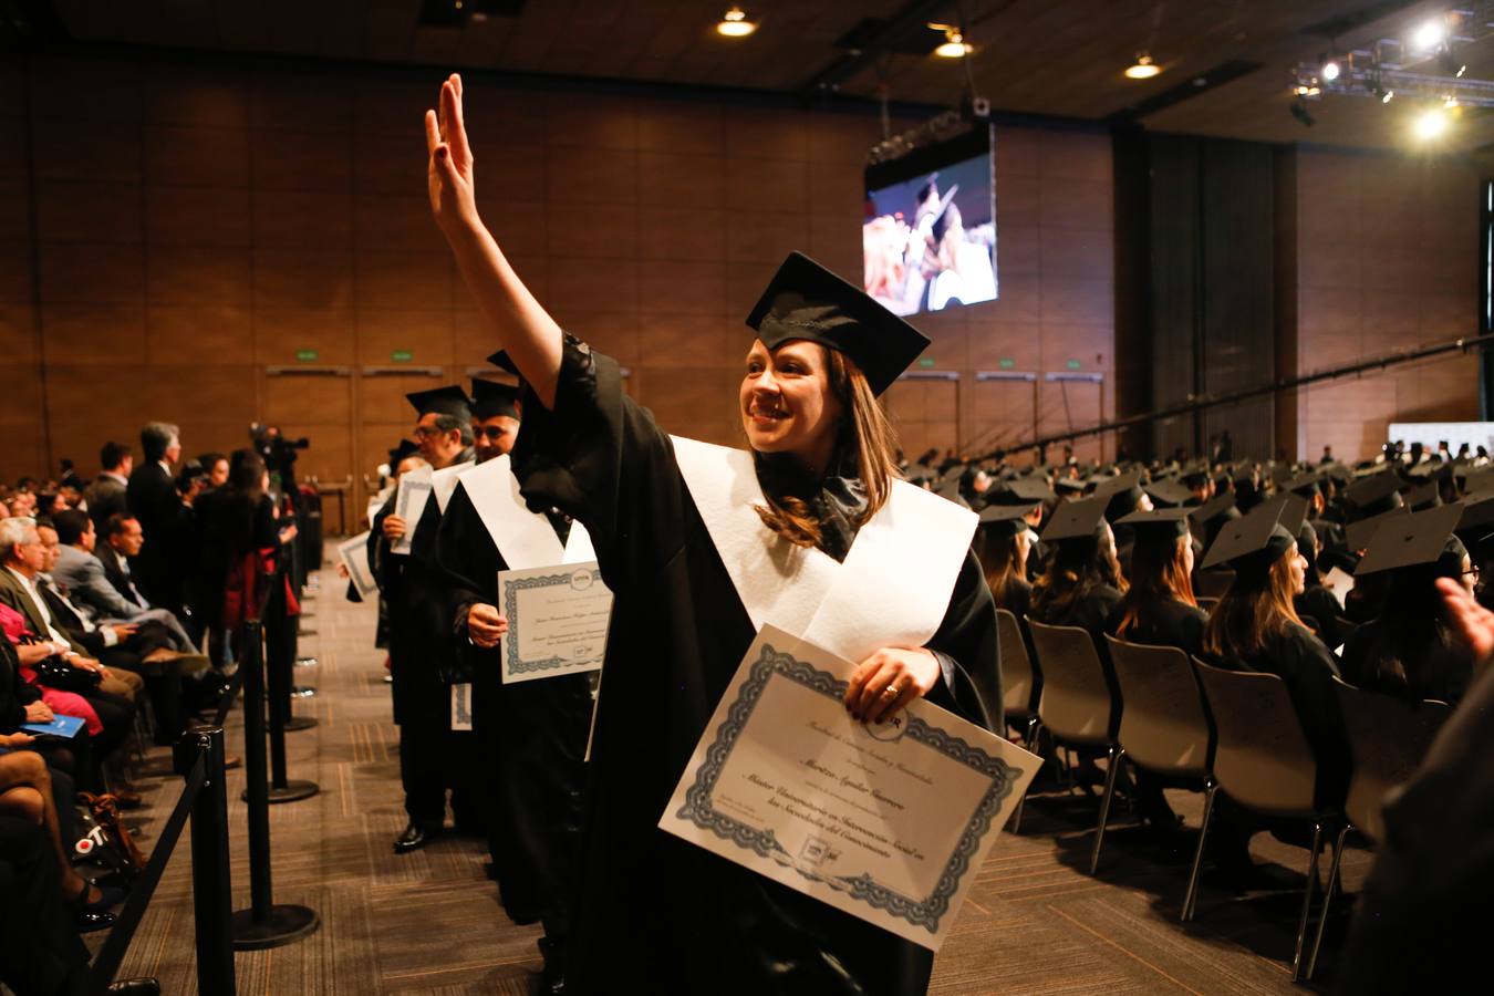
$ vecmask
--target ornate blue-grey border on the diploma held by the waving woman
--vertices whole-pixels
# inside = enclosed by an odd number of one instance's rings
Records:
[[[689,820],[704,830],[711,830],[737,847],[753,851],[760,857],[771,857],[780,865],[792,868],[804,878],[825,883],[874,909],[886,911],[893,917],[907,920],[913,926],[926,929],[932,935],[938,935],[940,921],[949,914],[950,899],[959,891],[959,883],[970,872],[971,857],[979,850],[980,841],[991,830],[991,821],[1001,811],[1001,803],[1011,794],[1020,771],[946,730],[929,726],[917,717],[908,717],[908,729],[904,738],[923,744],[991,778],[991,787],[986,788],[970,821],[961,832],[959,844],[940,874],[934,891],[925,899],[916,899],[887,888],[870,875],[817,875],[790,860],[789,853],[774,836],[772,830],[762,830],[741,823],[719,812],[711,803],[722,769],[726,768],[726,760],[737,747],[743,727],[747,726],[747,720],[751,718],[763,688],[768,687],[768,681],[774,675],[781,675],[810,691],[817,691],[828,697],[841,699],[846,694],[847,682],[826,670],[798,660],[793,654],[775,651],[771,644],[763,644],[762,653],[753,663],[747,681],[741,684],[737,700],[726,714],[726,720],[716,732],[716,741],[705,753],[705,763],[696,772],[695,784],[686,791],[684,805],[675,815],[681,820]]]

